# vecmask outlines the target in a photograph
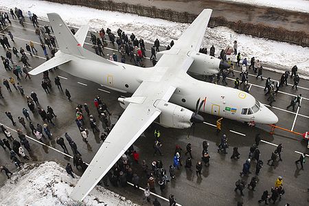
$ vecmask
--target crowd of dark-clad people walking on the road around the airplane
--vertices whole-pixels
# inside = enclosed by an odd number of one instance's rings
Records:
[[[25,16],[23,16],[23,12],[20,9],[11,9],[10,14],[12,16],[12,19],[19,19],[19,23],[24,26],[23,23],[26,20]],[[53,58],[54,54],[56,54],[57,52],[57,49],[56,39],[52,35],[52,27],[49,28],[48,25],[39,25],[38,17],[36,16],[36,14],[30,11],[28,11],[27,14],[29,16],[30,22],[33,23],[33,26],[35,28],[35,34],[36,36],[38,36],[38,40],[41,43],[41,47],[43,49],[46,60],[49,59],[49,53],[51,54],[51,58]],[[8,16],[6,12],[1,14],[0,23],[2,26],[11,23],[10,16]],[[71,32],[75,34],[74,29],[72,29]],[[3,85],[6,87],[9,93],[13,92],[11,86],[14,87],[16,91],[19,91],[23,98],[25,98],[27,106],[25,106],[22,111],[20,111],[20,114],[22,113],[23,116],[17,115],[16,117],[13,117],[10,111],[6,111],[5,115],[8,117],[8,119],[10,119],[13,126],[16,126],[17,123],[15,122],[15,120],[18,119],[20,126],[23,126],[23,129],[25,131],[27,131],[29,128],[31,130],[31,135],[36,137],[36,139],[42,144],[44,144],[46,141],[49,141],[50,139],[56,139],[56,144],[58,144],[58,146],[60,146],[60,148],[62,148],[63,152],[65,152],[66,154],[70,153],[67,149],[67,144],[69,144],[73,152],[73,166],[76,166],[76,170],[84,172],[87,169],[87,163],[84,163],[84,161],[82,160],[82,154],[78,151],[78,146],[76,142],[73,141],[73,139],[69,136],[68,133],[65,133],[65,138],[54,137],[52,134],[52,127],[56,126],[56,122],[54,122],[54,120],[57,118],[54,109],[51,106],[45,107],[41,105],[38,101],[38,95],[34,93],[34,91],[32,91],[30,95],[27,95],[27,92],[24,91],[23,86],[21,85],[21,81],[26,80],[27,78],[31,79],[31,76],[28,73],[30,63],[28,62],[29,56],[27,55],[30,55],[30,57],[38,55],[38,51],[34,47],[34,41],[29,41],[29,43],[24,45],[25,50],[27,51],[25,52],[23,47],[20,47],[20,49],[17,49],[15,47],[16,43],[14,42],[14,36],[10,31],[8,31],[8,36],[10,36],[10,40],[12,41],[12,47],[6,35],[3,35],[0,38],[0,43],[3,49],[5,49],[6,51],[5,56],[1,56],[1,60],[3,61],[4,69],[9,73],[8,78],[3,78]],[[121,55],[120,62],[126,63],[126,61],[130,58],[130,62],[132,62],[133,64],[140,67],[145,67],[143,61],[146,57],[146,47],[142,38],[138,40],[135,34],[132,33],[129,36],[121,29],[118,29],[117,32],[113,34],[110,29],[107,28],[105,31],[102,28],[102,30],[100,30],[98,34],[91,33],[91,42],[93,44],[95,54],[98,54],[99,56],[105,56],[103,49],[108,45],[107,38],[112,45],[115,45],[115,43],[117,44],[117,50]],[[47,52],[46,45],[49,49],[49,52]],[[170,49],[173,45],[174,41],[171,41],[170,45],[168,45],[166,49]],[[156,52],[159,52],[160,47],[161,45],[159,43],[159,40],[157,39],[150,50],[150,60],[152,61],[152,65],[155,65],[157,63]],[[14,56],[16,56],[16,62],[12,59],[12,53],[10,52],[11,50]],[[201,48],[200,52],[203,54],[207,54],[207,48]],[[209,55],[215,56],[215,54],[215,47],[214,45],[212,45],[212,47],[209,49]],[[261,78],[261,80],[264,80],[262,63],[260,60],[255,60],[255,58],[252,57],[249,65],[249,62],[247,62],[247,58],[242,59],[241,53],[238,51],[237,41],[234,41],[233,55],[236,56],[237,62],[232,62],[231,58],[227,58],[227,51],[222,49],[219,58],[227,61],[227,63],[230,65],[230,68],[220,71],[217,74],[214,83],[220,84],[220,78],[222,77],[222,83],[227,85],[228,83],[226,82],[226,78],[229,76],[229,74],[232,73],[232,76],[235,76],[233,72],[234,66],[241,67],[241,80],[240,78],[236,78],[236,80],[234,81],[235,88],[239,89],[240,85],[244,84],[244,91],[249,92],[249,70],[253,69],[253,72],[257,73],[256,79]],[[109,59],[113,61],[118,61],[118,56],[117,54],[113,53],[113,55],[109,56]],[[242,62],[240,63],[241,60]],[[22,65],[19,65],[19,62],[22,62]],[[56,70],[57,68],[55,67],[54,69]],[[11,71],[12,73],[10,73]],[[52,89],[52,80],[49,78],[50,71],[52,71],[52,69],[43,73],[43,79],[41,83],[41,87],[47,94],[49,94]],[[13,75],[16,76],[17,81],[13,78]],[[288,85],[287,80],[289,76],[294,80],[294,85],[292,89],[294,89],[294,87],[295,89],[297,89],[297,84],[299,83],[299,76],[297,74],[296,65],[291,69],[291,72],[286,71],[285,73],[283,73],[280,80],[272,81],[271,78],[266,79],[264,91],[266,91],[265,95],[269,95],[268,101],[270,102],[270,106],[272,106],[273,102],[275,102],[275,95],[279,91],[279,88],[284,87],[284,84],[286,86]],[[62,91],[62,84],[58,76],[54,78],[54,84],[58,87],[60,91]],[[71,94],[68,89],[65,89],[65,95],[67,96],[68,100],[71,101]],[[1,92],[1,86],[0,98],[4,98]],[[298,106],[300,106],[301,94],[293,97],[293,100],[291,100],[290,105],[287,106],[287,109],[292,107],[293,111],[295,111],[295,106],[297,103]],[[98,111],[98,114],[92,114],[87,103],[78,104],[76,106],[75,121],[76,125],[78,126],[82,141],[84,141],[85,144],[89,144],[89,141],[87,140],[89,136],[89,130],[87,128],[91,128],[93,133],[99,133],[100,139],[102,141],[105,141],[108,133],[113,128],[113,125],[111,124],[111,121],[109,119],[109,117],[111,116],[111,112],[108,111],[106,103],[102,101],[99,95],[96,96],[93,100],[93,106],[95,107],[96,111]],[[32,117],[32,114],[30,115],[26,107],[28,107],[32,113],[38,113],[41,119],[34,119],[34,117]],[[46,111],[44,108],[46,108]],[[95,117],[98,117],[99,121]],[[34,123],[34,121],[36,121],[36,124]],[[26,122],[28,122],[28,124],[26,124]],[[89,124],[86,124],[87,122],[89,122]],[[100,126],[100,122],[102,126]],[[6,150],[8,148],[11,161],[16,165],[16,167],[21,168],[21,166],[23,165],[23,161],[30,161],[30,158],[28,157],[28,155],[26,155],[23,148],[25,148],[27,152],[29,152],[30,156],[32,152],[30,143],[29,141],[27,141],[27,135],[24,134],[23,130],[17,129],[17,137],[19,137],[19,140],[17,140],[17,138],[13,137],[14,135],[10,133],[10,130],[8,128],[3,125],[1,125],[0,127],[2,133],[5,135],[5,138],[0,139],[0,146],[3,148],[3,150]],[[18,127],[19,126],[17,126],[17,128]],[[220,130],[218,130],[218,133],[220,133]],[[218,152],[222,155],[226,155],[228,153],[229,145],[227,142],[227,136],[222,135],[221,142],[218,146]],[[239,179],[238,181],[236,181],[235,191],[240,190],[241,195],[244,195],[243,190],[246,185],[252,191],[254,191],[255,187],[258,185],[257,176],[260,174],[260,170],[264,164],[262,159],[260,159],[260,149],[258,148],[259,143],[260,135],[257,135],[257,137],[255,137],[255,144],[253,144],[250,148],[249,158],[243,164],[242,172],[240,172],[240,176],[248,176],[249,174],[251,174],[251,163],[255,161],[255,176],[251,178],[251,181],[248,185],[243,179]],[[160,131],[155,130],[153,145],[154,156],[163,155],[163,153],[161,152],[162,146],[163,144],[161,141]],[[203,141],[202,146],[203,151],[201,153],[201,157],[197,158],[195,164],[197,176],[201,176],[204,167],[210,166],[210,155],[208,151],[209,142]],[[282,144],[279,144],[276,150],[272,152],[271,159],[267,161],[268,164],[271,163],[270,166],[273,166],[278,161],[278,157],[279,161],[282,161],[282,150]],[[192,172],[192,167],[194,164],[192,163],[192,145],[190,143],[188,143],[186,146],[186,152],[184,156],[187,156],[185,158],[185,170],[189,170]],[[23,161],[21,161],[21,158],[23,158]],[[183,166],[182,159],[182,148],[181,146],[177,145],[175,146],[174,155],[172,157],[172,164],[168,164],[166,167],[164,167],[163,162],[160,159],[155,159],[151,161],[150,165],[148,165],[146,160],[142,160],[140,163],[142,172],[141,174],[138,174],[138,172],[135,172],[135,166],[138,165],[140,161],[139,153],[137,152],[137,150],[134,149],[133,146],[130,146],[130,148],[124,153],[124,155],[122,155],[122,157],[119,159],[119,161],[117,161],[113,168],[106,174],[106,176],[103,177],[102,184],[104,184],[104,186],[106,187],[109,186],[109,183],[111,183],[111,185],[113,185],[114,187],[126,187],[128,185],[127,182],[129,181],[130,183],[133,183],[135,188],[139,188],[140,185],[146,184],[147,186],[144,190],[144,198],[146,201],[150,202],[150,192],[155,192],[155,185],[159,185],[160,190],[164,191],[166,185],[168,185],[170,181],[175,181],[176,171],[181,170],[181,167]],[[231,155],[231,159],[232,161],[237,161],[238,159],[240,159],[240,153],[238,152],[237,147],[233,147],[233,154]],[[302,154],[301,157],[299,157],[299,159],[295,161],[295,163],[301,164],[301,169],[304,169],[304,159],[305,155]],[[168,168],[168,172],[165,168]],[[73,168],[70,163],[67,163],[65,169],[67,173],[72,176],[72,178],[75,177],[73,174]],[[10,170],[8,170],[5,165],[1,166],[1,172],[2,171],[5,172],[8,179],[10,178],[10,175],[12,175],[12,172],[10,172]],[[141,175],[143,175],[147,179],[147,183],[140,183]],[[278,198],[279,200],[281,199],[283,194],[283,181],[282,177],[279,176],[275,181],[275,186],[271,188],[271,195],[270,193],[268,193],[268,190],[265,190],[259,203],[264,202],[265,204],[267,204],[268,201],[273,201],[273,203],[275,203]],[[176,199],[174,198],[173,194],[170,194],[169,201],[170,205],[176,205]],[[157,198],[155,198],[152,203],[153,205],[160,205]]]

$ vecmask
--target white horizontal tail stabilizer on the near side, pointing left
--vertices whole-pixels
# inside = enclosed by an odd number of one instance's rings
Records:
[[[54,58],[51,58],[44,62],[42,65],[36,67],[35,69],[32,69],[29,73],[31,75],[37,75],[38,73],[42,73],[43,71],[46,71],[48,69],[52,69],[54,67],[57,67],[59,65],[65,64],[66,62],[69,62],[72,60],[71,55],[63,54],[60,51],[57,52],[58,55],[54,56]]]

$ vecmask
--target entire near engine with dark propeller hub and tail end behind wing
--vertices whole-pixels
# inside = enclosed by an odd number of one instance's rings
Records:
[[[128,104],[142,104],[143,97],[133,98],[118,98],[120,105],[125,108]],[[166,102],[164,100],[157,100],[154,106],[161,111],[159,115],[159,123],[161,126],[169,128],[190,128],[192,124],[204,122],[204,118],[196,112],[192,112],[187,108]]]

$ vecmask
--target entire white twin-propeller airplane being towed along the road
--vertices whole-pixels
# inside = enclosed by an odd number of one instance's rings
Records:
[[[241,122],[278,121],[273,112],[249,93],[196,80],[187,74],[189,69],[201,74],[218,72],[220,60],[198,52],[211,12],[203,10],[174,46],[159,54],[157,65],[150,68],[113,62],[89,52],[82,47],[88,26],[82,26],[73,36],[58,14],[47,14],[60,50],[30,74],[59,66],[73,76],[115,91],[133,93],[130,98],[118,99],[124,113],[74,187],[71,198],[82,201],[154,121],[165,127],[190,128],[204,121],[198,111]]]

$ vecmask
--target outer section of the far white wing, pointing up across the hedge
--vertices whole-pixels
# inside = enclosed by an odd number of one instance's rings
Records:
[[[176,41],[172,49],[195,49],[196,52],[200,50],[205,31],[211,16],[211,9],[205,9],[199,14],[192,24],[187,27],[181,37]]]

